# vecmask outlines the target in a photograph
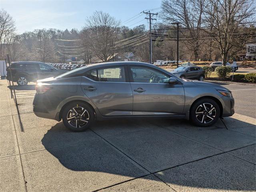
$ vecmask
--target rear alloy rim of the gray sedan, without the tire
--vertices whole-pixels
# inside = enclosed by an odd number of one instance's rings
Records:
[[[68,111],[67,121],[74,128],[84,127],[89,121],[89,113],[83,107],[73,107]]]

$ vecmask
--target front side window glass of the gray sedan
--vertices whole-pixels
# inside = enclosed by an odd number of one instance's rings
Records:
[[[148,67],[131,67],[135,83],[166,83],[170,76]]]

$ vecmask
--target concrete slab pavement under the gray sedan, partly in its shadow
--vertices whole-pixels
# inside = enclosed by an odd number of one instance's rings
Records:
[[[96,122],[75,133],[32,113],[35,91],[0,80],[0,191],[256,191],[256,119],[208,128],[168,118]],[[228,129],[226,129],[226,127]]]

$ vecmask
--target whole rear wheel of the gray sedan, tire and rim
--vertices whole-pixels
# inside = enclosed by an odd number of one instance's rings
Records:
[[[68,121],[68,117],[71,119],[69,119],[70,121]],[[93,124],[94,111],[84,102],[70,102],[62,111],[62,121],[71,131],[82,132]]]

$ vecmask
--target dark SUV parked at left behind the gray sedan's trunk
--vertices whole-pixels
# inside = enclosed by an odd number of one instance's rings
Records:
[[[12,71],[13,81],[17,82],[19,86],[26,86],[28,82],[36,82],[38,79],[68,72],[68,70],[56,69],[42,62],[11,62],[7,69],[7,80],[11,80],[10,70]]]

